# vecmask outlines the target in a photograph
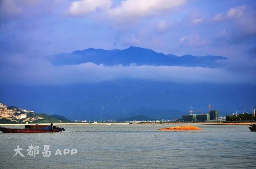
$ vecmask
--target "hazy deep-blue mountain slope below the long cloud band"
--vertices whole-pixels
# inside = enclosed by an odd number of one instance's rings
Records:
[[[207,113],[208,104],[219,111],[241,112],[245,109],[250,112],[249,107],[256,102],[256,86],[249,84],[177,84],[132,79],[60,86],[9,85],[1,86],[0,93],[1,102],[8,105],[85,120],[114,119],[130,113],[137,115],[139,108],[187,113],[193,109]],[[147,116],[147,112],[142,115]]]

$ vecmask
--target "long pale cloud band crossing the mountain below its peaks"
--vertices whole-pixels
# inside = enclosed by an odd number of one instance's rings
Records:
[[[3,62],[2,62],[3,61]],[[122,66],[113,67],[84,63],[53,66],[42,58],[24,56],[2,59],[2,84],[61,85],[81,82],[101,82],[122,78],[172,81],[177,83],[254,83],[255,71],[238,71],[244,67],[230,65],[228,69],[179,66]],[[248,65],[247,63],[244,63]],[[254,63],[250,64],[253,65]],[[240,63],[238,63],[240,65]],[[15,67],[15,69],[14,69]],[[251,68],[251,66],[250,66]],[[8,71],[7,71],[8,70]]]

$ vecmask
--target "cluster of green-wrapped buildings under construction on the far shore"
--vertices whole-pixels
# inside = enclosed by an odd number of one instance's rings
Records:
[[[211,110],[209,114],[185,114],[182,115],[182,120],[184,122],[195,122],[195,121],[216,121],[218,120],[219,111],[218,110]]]

